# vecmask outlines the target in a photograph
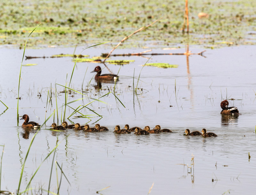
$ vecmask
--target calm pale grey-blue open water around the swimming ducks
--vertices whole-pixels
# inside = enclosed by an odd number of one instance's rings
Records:
[[[181,47],[184,47],[181,45]],[[76,48],[79,53],[84,48]],[[150,194],[254,194],[256,173],[255,151],[255,54],[256,46],[237,46],[222,49],[208,49],[203,56],[152,56],[148,63],[178,64],[178,68],[157,68],[142,65],[147,58],[140,56],[111,57],[112,60],[134,60],[130,64],[106,64],[113,73],[118,73],[116,96],[102,97],[88,105],[102,117],[95,116],[89,109],[82,109],[84,115],[93,115],[90,119],[69,119],[72,123],[100,123],[110,131],[101,133],[85,133],[67,130],[65,132],[50,131],[53,123],[51,117],[35,137],[30,149],[22,177],[21,191],[25,190],[32,174],[44,158],[56,145],[55,161],[63,163],[63,172],[71,185],[62,176],[60,194],[147,194],[154,183]],[[146,49],[145,49],[146,50]],[[192,53],[204,49],[190,46]],[[72,54],[74,48],[27,49],[26,56],[51,56],[53,54]],[[117,49],[115,54],[142,52],[139,49]],[[100,56],[109,50],[90,48],[82,54]],[[160,50],[154,53],[181,53],[185,49]],[[16,192],[20,172],[31,139],[36,131],[24,131],[22,121],[17,126],[17,97],[19,71],[23,50],[0,49],[0,103],[1,135],[0,145],[5,145],[2,162],[1,190]],[[150,57],[150,56],[147,56]],[[56,111],[55,83],[64,85],[72,73],[74,62],[71,57],[36,58],[24,60],[20,81],[19,115],[28,114],[31,121],[44,123],[46,118]],[[70,87],[92,98],[113,91],[113,83],[101,83],[102,89],[95,88],[92,79],[95,66],[103,64],[77,63]],[[88,68],[86,74],[85,71]],[[137,95],[133,93],[133,71],[140,81]],[[68,76],[67,76],[68,73]],[[103,73],[109,73],[107,68]],[[85,75],[85,78],[84,78]],[[90,80],[92,79],[91,83]],[[175,91],[176,82],[176,91]],[[136,87],[137,80],[134,85]],[[52,84],[52,101],[47,102],[47,93]],[[142,90],[141,90],[142,88]],[[57,86],[57,103],[59,124],[61,106],[65,102],[65,94],[60,93],[64,87]],[[41,97],[38,96],[41,94]],[[68,106],[77,108],[89,103],[81,94],[68,95]],[[232,100],[231,100],[232,98]],[[236,106],[241,113],[238,117],[220,115],[220,102],[229,99],[230,106]],[[234,100],[233,100],[234,99]],[[78,101],[75,101],[78,100]],[[74,101],[74,102],[72,102]],[[64,107],[62,110],[63,118]],[[66,116],[73,109],[67,107]],[[67,120],[67,119],[66,119]],[[68,120],[67,120],[68,121]],[[68,121],[68,123],[71,123]],[[55,113],[55,122],[57,114]],[[175,133],[151,134],[138,136],[131,134],[116,135],[115,125],[125,124],[153,128],[160,124]],[[218,135],[216,138],[186,137],[185,129],[208,132]],[[2,147],[1,147],[2,148]],[[250,152],[251,159],[248,159]],[[191,156],[194,155],[192,172]],[[53,154],[43,163],[31,183],[33,194],[42,187],[48,190]],[[182,165],[186,164],[186,166]],[[50,191],[57,193],[55,164],[52,171]],[[213,181],[212,181],[213,179]],[[58,168],[60,182],[60,169]],[[29,192],[31,193],[31,192]],[[46,193],[46,192],[43,192]]]

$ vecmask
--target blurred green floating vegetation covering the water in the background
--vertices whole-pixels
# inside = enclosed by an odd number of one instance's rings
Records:
[[[0,44],[27,46],[75,46],[111,41],[113,47],[125,36],[156,19],[159,22],[132,36],[122,48],[168,47],[175,44],[217,48],[256,44],[256,1],[189,0],[189,36],[182,34],[184,1],[18,1],[2,0]],[[204,12],[208,18],[199,19]]]

